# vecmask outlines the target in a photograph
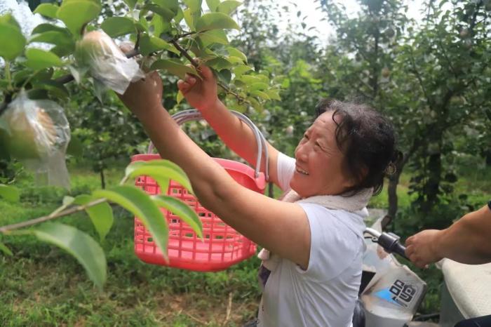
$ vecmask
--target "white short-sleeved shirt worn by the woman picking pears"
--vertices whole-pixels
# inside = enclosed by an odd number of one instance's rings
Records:
[[[294,171],[295,159],[279,154],[278,180],[283,190],[290,188]],[[298,204],[310,225],[309,267],[303,270],[290,260],[280,260],[264,288],[258,326],[351,326],[365,249],[363,217],[368,212]]]

